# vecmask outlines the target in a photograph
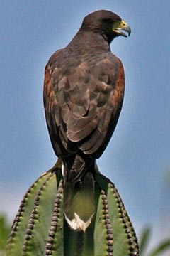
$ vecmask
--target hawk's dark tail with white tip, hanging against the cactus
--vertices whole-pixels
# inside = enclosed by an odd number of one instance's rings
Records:
[[[95,161],[77,155],[71,169],[64,166],[64,215],[70,228],[86,231],[95,213]]]

